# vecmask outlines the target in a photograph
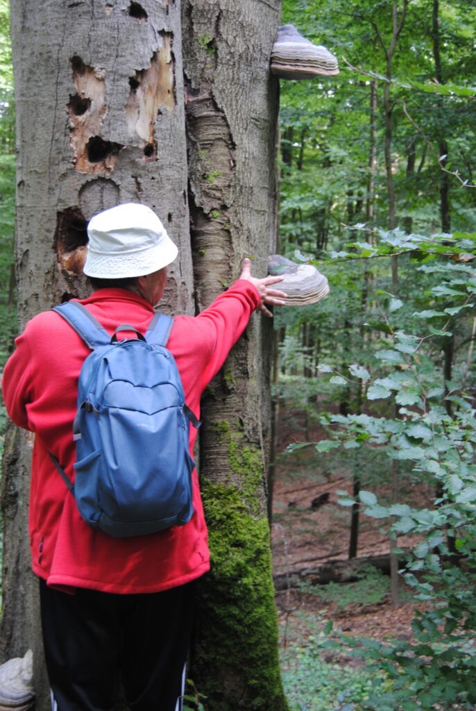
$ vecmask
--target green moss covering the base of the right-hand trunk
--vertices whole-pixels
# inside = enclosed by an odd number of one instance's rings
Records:
[[[285,711],[261,451],[244,444],[229,422],[213,429],[226,444],[230,477],[229,483],[202,482],[212,570],[200,589],[193,679],[207,697],[206,711]],[[207,669],[215,671],[213,679]],[[233,679],[234,688],[223,679]]]

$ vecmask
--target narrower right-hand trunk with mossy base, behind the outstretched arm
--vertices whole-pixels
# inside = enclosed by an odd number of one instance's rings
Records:
[[[199,309],[237,277],[242,257],[266,257],[274,245],[278,107],[269,55],[278,20],[278,0],[183,4]],[[264,259],[257,262],[256,274]],[[286,708],[266,518],[270,346],[270,324],[256,315],[202,402],[200,476],[212,572],[201,586],[189,676],[207,711]]]

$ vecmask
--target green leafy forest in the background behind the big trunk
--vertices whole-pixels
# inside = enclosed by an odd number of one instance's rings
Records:
[[[274,417],[296,415],[286,456],[305,452],[316,481],[326,472],[347,479],[350,557],[362,513],[378,518],[389,533],[394,604],[404,568],[425,603],[411,639],[353,642],[368,665],[345,673],[323,663],[342,641],[319,620],[283,654],[290,705],[473,708],[476,8],[285,0],[282,22],[327,46],[341,73],[281,81],[280,251],[315,263],[331,294],[276,314]],[[17,328],[8,38],[0,0],[2,361]],[[314,443],[307,435],[316,429]],[[433,492],[423,509],[422,486]],[[413,552],[399,549],[408,534],[418,540]]]

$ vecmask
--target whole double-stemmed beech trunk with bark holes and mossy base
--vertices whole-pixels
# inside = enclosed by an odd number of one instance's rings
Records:
[[[20,328],[86,296],[87,221],[141,202],[178,245],[161,310],[194,314],[274,251],[280,0],[11,0]],[[185,67],[185,73],[184,73]],[[255,273],[258,270],[255,268]],[[207,711],[286,708],[266,520],[269,324],[255,315],[202,409],[213,572],[193,678]],[[1,660],[33,648],[48,708],[26,531],[32,438],[11,427],[3,482]]]

